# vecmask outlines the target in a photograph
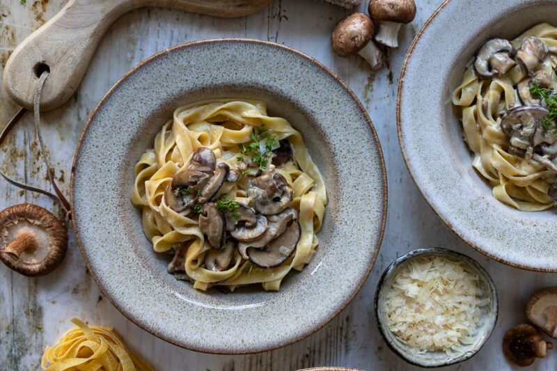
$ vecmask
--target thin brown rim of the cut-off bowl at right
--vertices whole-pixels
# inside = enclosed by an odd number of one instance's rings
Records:
[[[464,235],[464,232],[458,230],[457,228],[453,227],[453,223],[451,223],[448,219],[448,217],[441,211],[439,211],[437,205],[434,203],[434,201],[432,200],[432,198],[422,190],[421,188],[421,184],[419,184],[416,181],[416,177],[414,176],[414,170],[411,166],[411,161],[409,160],[409,157],[407,155],[407,149],[406,149],[406,145],[405,145],[405,141],[402,139],[402,125],[401,125],[401,101],[402,101],[402,87],[404,86],[404,80],[405,80],[405,75],[406,75],[406,70],[407,70],[407,65],[409,63],[409,60],[412,56],[412,53],[414,52],[414,49],[416,48],[416,45],[418,45],[418,42],[421,39],[421,36],[423,35],[423,33],[427,30],[427,27],[430,26],[431,22],[437,17],[437,15],[439,15],[439,13],[441,12],[441,10],[443,10],[448,3],[450,3],[451,0],[445,0],[443,3],[441,3],[437,9],[432,13],[432,15],[430,15],[430,17],[427,19],[427,21],[425,21],[425,23],[423,24],[423,26],[421,27],[420,31],[418,31],[418,33],[416,34],[416,37],[414,37],[414,40],[412,40],[412,43],[408,49],[408,52],[405,56],[405,61],[404,63],[402,63],[402,68],[400,70],[400,77],[398,80],[398,92],[397,92],[397,99],[396,99],[396,127],[397,127],[397,134],[398,134],[398,143],[400,145],[400,151],[402,152],[402,158],[405,160],[405,164],[406,167],[408,168],[408,172],[410,173],[410,177],[412,178],[412,181],[414,182],[414,184],[416,184],[416,187],[418,187],[418,189],[421,191],[421,194],[423,195],[423,197],[425,198],[425,200],[427,201],[427,203],[430,205],[430,207],[433,209],[433,211],[435,212],[435,214],[437,214],[437,216],[439,216],[439,218],[444,221],[444,223],[446,224],[446,226],[453,231],[453,233],[455,233],[455,235],[457,235],[458,237],[460,237],[460,239],[462,239],[462,241],[464,243],[466,243],[468,246],[470,246],[471,248],[474,248],[476,251],[482,253],[483,255],[487,256],[488,258],[491,258],[493,260],[495,260],[496,262],[500,262],[503,263],[505,265],[509,265],[510,267],[516,267],[516,268],[520,268],[520,269],[524,269],[527,271],[537,271],[537,272],[544,272],[544,273],[556,273],[557,272],[557,267],[554,269],[551,268],[544,268],[544,267],[535,267],[532,265],[524,265],[524,264],[520,264],[518,262],[511,262],[510,260],[506,260],[504,258],[501,258],[500,256],[496,256],[493,253],[489,253],[487,251],[485,251],[484,248],[478,246],[478,244],[475,244],[474,242],[472,242],[469,238],[467,238]]]

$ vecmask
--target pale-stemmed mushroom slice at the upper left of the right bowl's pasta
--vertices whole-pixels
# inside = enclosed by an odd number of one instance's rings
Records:
[[[496,54],[497,56],[495,56]],[[505,58],[503,54],[506,54],[508,58]],[[491,79],[495,75],[503,77],[516,64],[512,60],[513,56],[515,56],[515,48],[512,47],[508,40],[491,39],[478,52],[474,68],[476,68],[476,73],[482,79]],[[497,70],[492,63],[495,63],[501,70]]]

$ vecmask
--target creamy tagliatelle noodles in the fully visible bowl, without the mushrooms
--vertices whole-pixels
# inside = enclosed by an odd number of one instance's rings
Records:
[[[278,143],[285,142],[292,148],[292,158],[283,164],[272,165],[271,150],[276,150]],[[264,148],[265,145],[269,148]],[[227,177],[217,194],[209,200],[201,198],[199,189],[198,194],[190,195],[195,187],[173,189],[173,193],[168,191],[176,177],[191,170],[192,156],[207,148],[212,150],[217,169],[219,164],[226,164],[225,167],[235,172],[239,179],[229,180]],[[234,290],[239,285],[251,283],[261,283],[265,290],[278,290],[288,272],[303,269],[315,253],[316,233],[321,228],[327,205],[322,175],[301,134],[284,118],[268,116],[263,102],[222,99],[180,106],[174,111],[173,119],[164,124],[155,137],[153,149],[143,153],[134,173],[132,202],[141,208],[143,232],[157,253],[174,254],[173,263],[179,265],[172,268],[175,276],[191,281],[198,290],[207,290],[213,285]],[[294,252],[280,265],[263,268],[242,256],[240,248],[234,248],[226,267],[209,269],[207,256],[224,251],[224,248],[212,248],[201,230],[200,219],[209,217],[204,216],[207,213],[203,207],[209,202],[218,205],[217,200],[230,200],[231,203],[222,205],[240,205],[252,210],[258,195],[250,192],[251,182],[261,174],[274,176],[274,179],[285,182],[280,187],[291,189],[288,210],[295,210],[295,222],[299,224],[299,239]],[[217,177],[212,172],[210,175]],[[191,201],[191,207],[183,207],[183,210],[173,206],[174,202],[190,196],[196,197],[195,205]],[[169,198],[180,199],[171,202]],[[278,218],[274,212],[268,214],[271,215],[265,215],[265,226],[271,226]]]

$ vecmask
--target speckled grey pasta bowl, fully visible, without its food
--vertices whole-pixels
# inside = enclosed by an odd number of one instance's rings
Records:
[[[130,201],[133,166],[173,110],[216,97],[267,102],[304,136],[327,184],[320,247],[280,292],[201,292],[176,281]],[[74,158],[72,213],[95,280],[132,322],[200,352],[263,352],[320,329],[366,281],[384,231],[386,173],[370,118],[327,68],[274,43],[205,40],[148,58],[102,98]]]

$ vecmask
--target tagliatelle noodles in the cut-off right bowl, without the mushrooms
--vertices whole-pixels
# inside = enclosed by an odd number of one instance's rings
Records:
[[[460,86],[453,91],[452,102],[460,111],[464,141],[474,153],[472,166],[491,184],[493,196],[518,210],[534,212],[554,206],[548,193],[556,174],[528,156],[511,153],[509,137],[501,129],[503,112],[520,105],[517,101],[519,82],[535,79],[535,72],[543,71],[551,88],[557,86],[554,72],[557,28],[547,23],[538,24],[511,40],[511,44],[519,49],[528,36],[539,38],[549,49],[547,56],[531,72],[532,77],[524,74],[517,64],[504,77],[480,79],[472,61],[466,67]]]

